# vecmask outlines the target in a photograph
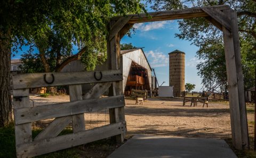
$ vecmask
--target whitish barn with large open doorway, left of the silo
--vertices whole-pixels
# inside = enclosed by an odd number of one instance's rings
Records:
[[[121,50],[123,68],[123,92],[136,90],[151,90],[151,67],[142,48]],[[61,72],[85,71],[81,60],[75,60],[66,65]],[[96,70],[106,69],[99,65]],[[83,91],[91,89],[91,85],[83,85]]]

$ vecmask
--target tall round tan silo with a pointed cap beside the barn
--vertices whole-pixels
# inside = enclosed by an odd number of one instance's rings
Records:
[[[169,85],[174,96],[182,96],[185,91],[185,52],[174,50],[169,53]]]

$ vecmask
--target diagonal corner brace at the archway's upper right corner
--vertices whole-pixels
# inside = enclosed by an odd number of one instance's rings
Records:
[[[215,10],[214,8],[202,8],[202,10],[231,32],[230,17],[227,17],[221,11]]]

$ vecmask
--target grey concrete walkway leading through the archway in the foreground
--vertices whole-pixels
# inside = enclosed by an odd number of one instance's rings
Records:
[[[237,157],[221,139],[135,135],[117,148],[114,157]]]

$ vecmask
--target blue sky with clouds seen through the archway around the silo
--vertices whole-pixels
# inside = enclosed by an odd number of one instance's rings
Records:
[[[197,76],[196,65],[199,60],[195,57],[198,47],[190,45],[190,41],[175,38],[179,33],[177,20],[138,23],[134,25],[136,31],[131,38],[125,36],[121,43],[132,43],[136,47],[143,48],[149,64],[155,68],[159,84],[169,85],[169,55],[168,53],[178,49],[186,53],[185,56],[185,80],[186,83],[196,85],[195,91],[201,90],[201,78]]]

